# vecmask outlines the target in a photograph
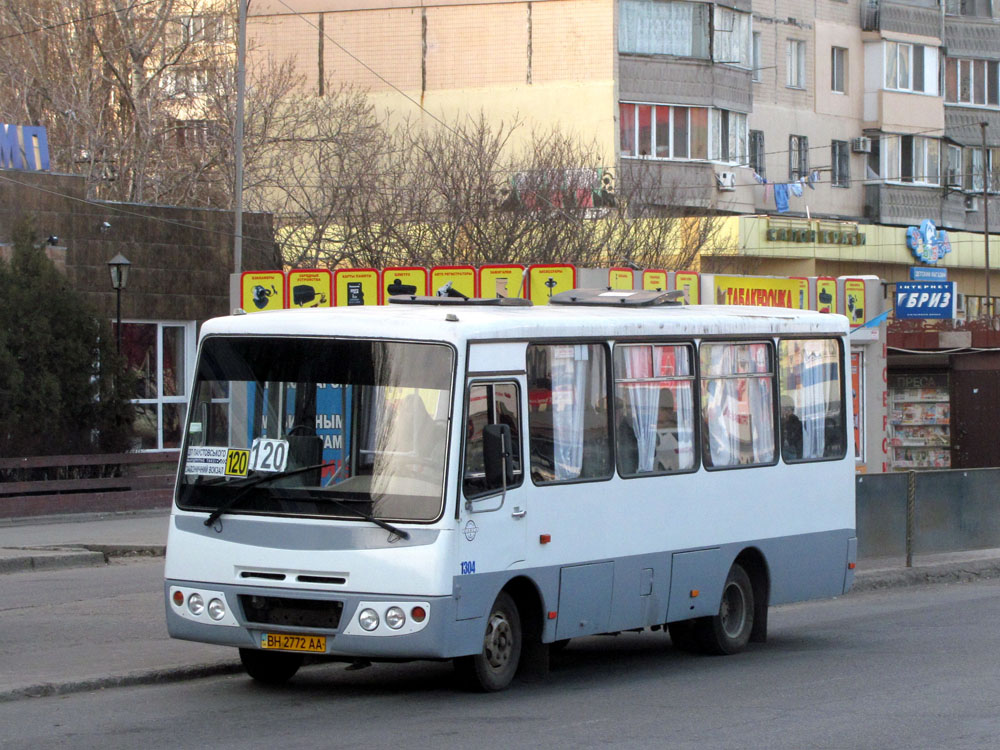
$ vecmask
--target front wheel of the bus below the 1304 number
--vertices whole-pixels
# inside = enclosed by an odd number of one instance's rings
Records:
[[[455,670],[465,686],[493,693],[510,686],[521,661],[521,617],[510,595],[501,591],[490,608],[483,634],[483,650],[455,659]]]

